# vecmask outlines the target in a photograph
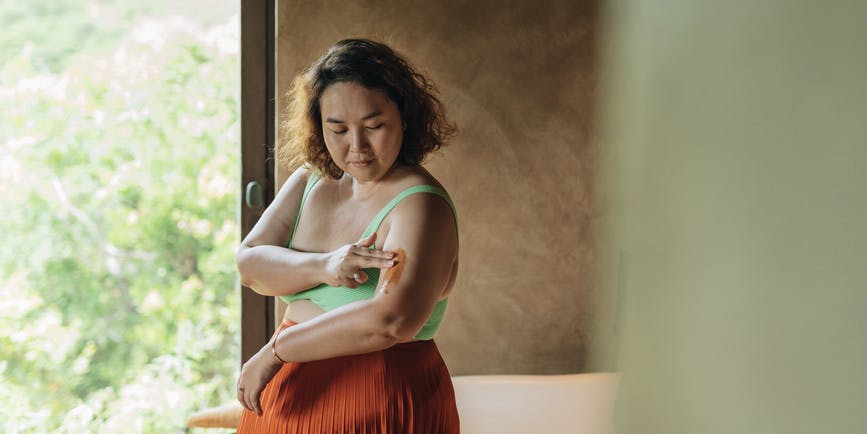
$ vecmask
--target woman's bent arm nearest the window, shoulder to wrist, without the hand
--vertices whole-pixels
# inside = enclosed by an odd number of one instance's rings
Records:
[[[286,248],[310,172],[300,168],[280,188],[236,255],[241,284],[262,295],[289,295],[323,281],[324,253]]]

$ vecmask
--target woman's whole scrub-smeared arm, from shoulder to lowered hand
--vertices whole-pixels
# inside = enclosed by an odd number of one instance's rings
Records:
[[[457,259],[457,227],[451,207],[433,194],[415,194],[404,199],[390,216],[391,227],[382,248],[403,250],[403,263],[382,273],[376,294],[328,311],[289,327],[274,342],[273,350],[283,360],[308,362],[383,350],[413,340],[433,311],[451,277]],[[400,276],[398,276],[398,274]],[[393,276],[387,279],[388,276]],[[384,287],[383,283],[390,280]],[[239,391],[245,407],[258,412],[258,396],[264,384],[255,378],[279,366],[266,345],[241,370]],[[258,389],[258,390],[257,390]],[[243,396],[242,396],[243,395]],[[253,399],[255,398],[255,399]]]

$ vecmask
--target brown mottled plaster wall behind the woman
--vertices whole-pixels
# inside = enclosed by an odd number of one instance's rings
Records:
[[[461,270],[437,337],[452,373],[581,372],[593,281],[595,4],[279,5],[281,94],[337,40],[371,37],[433,78],[458,124],[427,163],[460,219]]]

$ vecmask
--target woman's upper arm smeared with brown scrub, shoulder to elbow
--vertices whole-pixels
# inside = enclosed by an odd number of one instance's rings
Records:
[[[403,264],[380,275],[374,302],[395,322],[392,334],[410,339],[427,321],[450,281],[458,253],[451,207],[434,194],[404,199],[393,211],[382,248],[403,250],[405,258]]]

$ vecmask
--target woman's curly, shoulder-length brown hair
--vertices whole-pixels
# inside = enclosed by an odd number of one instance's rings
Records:
[[[287,93],[286,118],[281,125],[285,139],[277,155],[287,168],[309,164],[332,179],[343,176],[325,147],[319,107],[325,89],[340,82],[381,90],[397,104],[406,125],[399,163],[421,164],[456,131],[446,119],[436,86],[403,56],[380,42],[344,39],[295,77]]]

